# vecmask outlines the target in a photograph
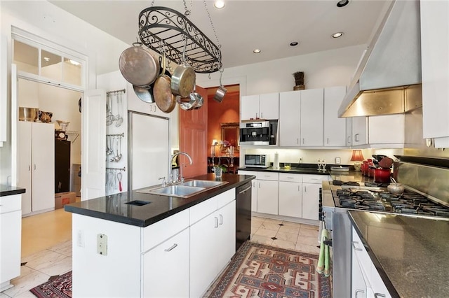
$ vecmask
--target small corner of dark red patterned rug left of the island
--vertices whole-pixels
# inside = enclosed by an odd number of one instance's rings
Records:
[[[39,298],[70,298],[72,297],[72,271],[60,276],[51,276],[46,283],[29,290]]]

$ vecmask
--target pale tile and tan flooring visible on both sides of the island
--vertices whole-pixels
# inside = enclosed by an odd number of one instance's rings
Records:
[[[319,255],[319,228],[295,222],[253,216],[251,239],[304,253]],[[0,292],[0,298],[34,297],[29,292],[50,276],[72,269],[72,213],[63,209],[22,218],[22,263],[13,288]]]

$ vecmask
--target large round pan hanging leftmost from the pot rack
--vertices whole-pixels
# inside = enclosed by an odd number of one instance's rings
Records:
[[[139,87],[149,87],[157,78],[160,67],[148,48],[133,43],[119,58],[120,72],[129,83]]]

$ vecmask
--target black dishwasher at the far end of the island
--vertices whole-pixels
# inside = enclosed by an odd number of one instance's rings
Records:
[[[251,235],[251,183],[236,187],[236,250]]]

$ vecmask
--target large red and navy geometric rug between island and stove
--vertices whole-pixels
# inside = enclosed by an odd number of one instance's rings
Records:
[[[330,298],[318,256],[246,241],[206,297]]]

